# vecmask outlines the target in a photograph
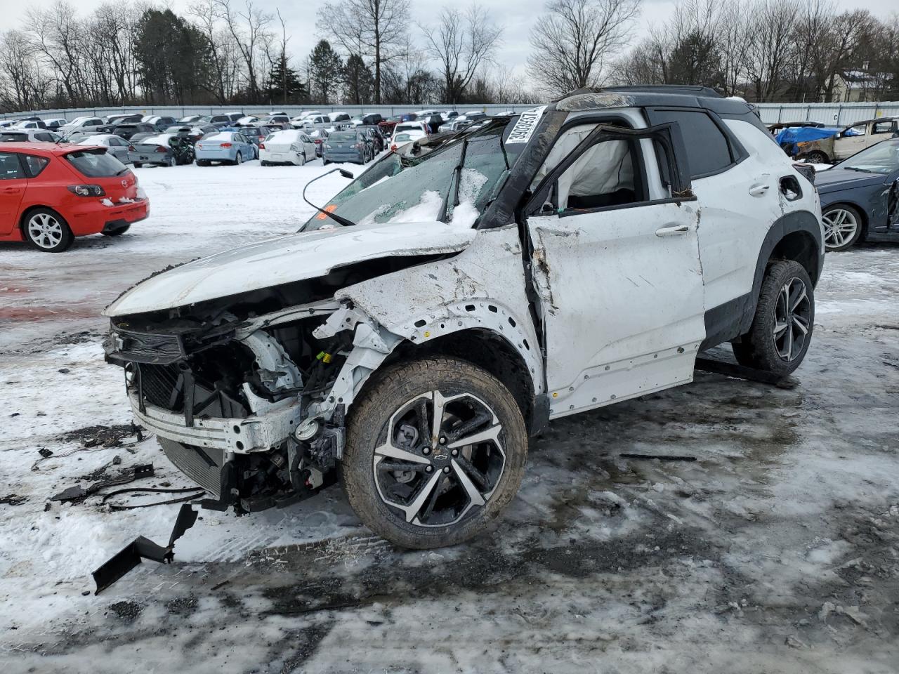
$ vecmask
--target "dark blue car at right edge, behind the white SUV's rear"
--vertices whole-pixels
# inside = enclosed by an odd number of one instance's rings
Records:
[[[858,241],[899,242],[899,138],[882,140],[817,173],[824,247]]]

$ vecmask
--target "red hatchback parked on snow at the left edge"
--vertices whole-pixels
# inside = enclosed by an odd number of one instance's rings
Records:
[[[116,236],[149,215],[138,177],[105,147],[0,144],[0,241],[65,251],[76,236]]]

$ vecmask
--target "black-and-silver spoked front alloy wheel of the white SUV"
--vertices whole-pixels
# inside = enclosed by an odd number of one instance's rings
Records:
[[[390,417],[372,469],[381,500],[419,527],[456,524],[490,500],[505,467],[503,425],[471,394],[418,395]]]

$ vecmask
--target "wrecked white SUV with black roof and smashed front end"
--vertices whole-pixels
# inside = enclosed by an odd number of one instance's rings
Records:
[[[203,505],[339,474],[381,536],[454,544],[512,500],[547,421],[686,384],[725,341],[777,375],[804,358],[818,198],[744,102],[581,90],[426,150],[107,309],[107,359]]]

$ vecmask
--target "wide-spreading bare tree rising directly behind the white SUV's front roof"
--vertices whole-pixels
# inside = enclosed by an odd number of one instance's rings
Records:
[[[530,69],[553,93],[599,84],[639,11],[640,0],[550,0],[530,32]]]

